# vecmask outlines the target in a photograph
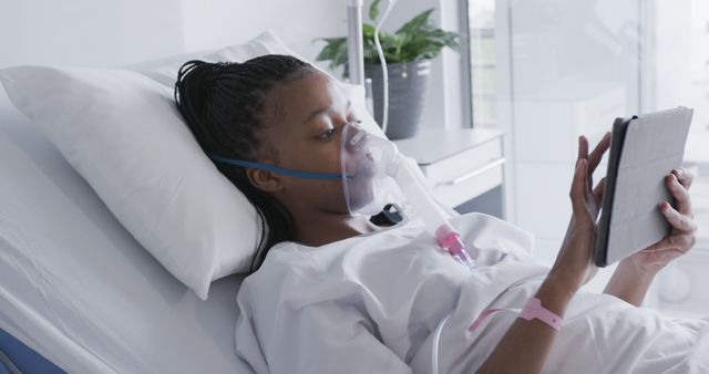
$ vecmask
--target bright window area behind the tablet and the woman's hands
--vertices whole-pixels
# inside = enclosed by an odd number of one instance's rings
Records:
[[[473,127],[506,132],[507,219],[535,235],[535,254],[548,261],[571,215],[577,137],[595,144],[615,117],[695,108],[685,167],[698,175],[690,190],[698,242],[661,273],[671,278],[665,284],[690,285],[676,300],[657,289],[654,303],[675,314],[706,309],[709,297],[697,290],[709,280],[709,2],[461,1]],[[604,271],[593,290],[605,285]]]

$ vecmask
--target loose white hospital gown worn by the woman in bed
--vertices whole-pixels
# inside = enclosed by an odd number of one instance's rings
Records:
[[[474,372],[516,313],[470,324],[489,308],[522,308],[549,267],[530,254],[530,233],[501,219],[451,224],[479,251],[480,271],[436,249],[419,220],[321,247],[275,246],[239,290],[237,354],[257,373],[430,373],[438,350],[440,373]],[[709,373],[709,320],[579,292],[543,372]]]

